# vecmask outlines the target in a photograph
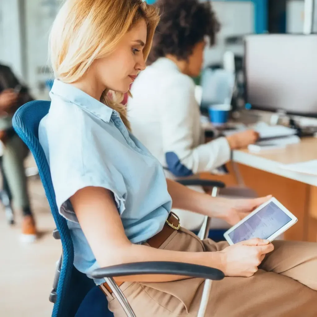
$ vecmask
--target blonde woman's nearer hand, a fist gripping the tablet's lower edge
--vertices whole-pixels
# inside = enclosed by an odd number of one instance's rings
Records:
[[[230,245],[219,251],[226,276],[250,277],[256,273],[265,255],[274,250],[268,240],[251,239]]]

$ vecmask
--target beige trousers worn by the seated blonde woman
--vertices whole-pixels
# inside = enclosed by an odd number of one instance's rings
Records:
[[[227,242],[200,241],[190,231],[175,231],[160,249],[208,252]],[[275,250],[252,277],[213,281],[206,317],[316,317],[317,243],[275,241]],[[204,280],[120,286],[137,317],[197,316]],[[115,317],[126,316],[118,300],[107,296]]]

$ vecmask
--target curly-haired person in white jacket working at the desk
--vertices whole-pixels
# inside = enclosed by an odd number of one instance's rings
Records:
[[[168,178],[215,171],[230,161],[231,150],[258,138],[248,130],[205,143],[192,77],[200,74],[204,48],[215,44],[220,24],[210,1],[161,0],[157,6],[162,15],[149,55],[152,64],[134,81],[127,104],[133,134],[159,159]],[[191,188],[204,191],[200,186]],[[225,190],[237,196],[239,191],[255,195],[245,189]],[[186,211],[175,212],[190,230],[204,220]]]

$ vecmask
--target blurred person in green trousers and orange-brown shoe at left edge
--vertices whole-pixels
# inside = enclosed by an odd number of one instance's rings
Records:
[[[18,107],[32,100],[28,89],[21,85],[12,70],[0,64],[0,140],[3,145],[3,172],[14,200],[23,212],[22,238],[36,239],[36,225],[31,212],[24,159],[28,148],[12,127],[12,117]]]

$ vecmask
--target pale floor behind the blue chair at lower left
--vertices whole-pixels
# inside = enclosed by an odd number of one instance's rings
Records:
[[[0,209],[0,316],[46,317],[56,261],[61,255],[60,241],[52,237],[55,228],[41,181],[29,178],[32,208],[41,238],[33,244],[19,241],[20,215],[10,227]]]

